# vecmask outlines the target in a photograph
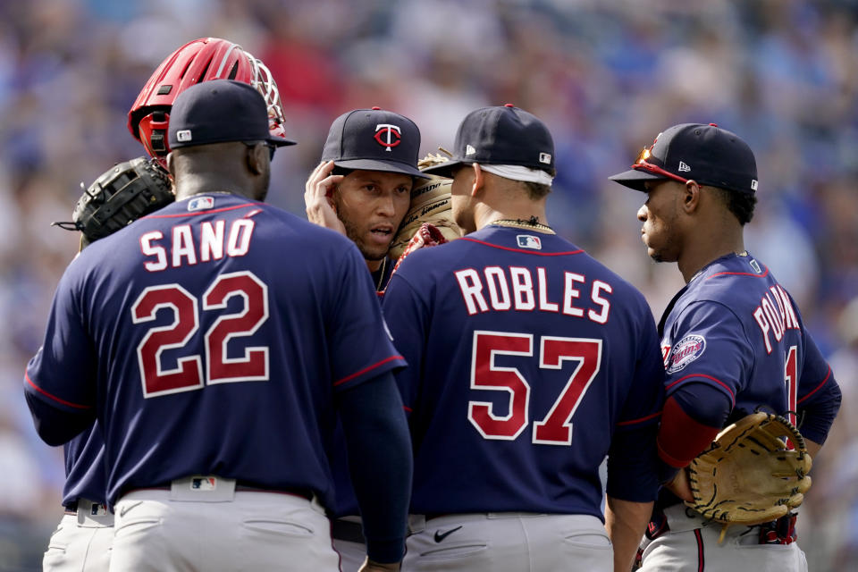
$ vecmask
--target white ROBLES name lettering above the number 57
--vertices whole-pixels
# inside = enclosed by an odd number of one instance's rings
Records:
[[[608,322],[610,299],[605,294],[613,292],[608,282],[594,280],[588,285],[584,274],[564,272],[560,279],[559,276],[547,277],[545,268],[535,271],[534,275],[533,269],[524,266],[485,266],[482,272],[466,268],[454,274],[468,315],[490,310],[539,310],[587,317],[597,324]],[[549,299],[549,280],[563,280],[562,299]],[[589,291],[592,305],[578,305],[582,291]]]

